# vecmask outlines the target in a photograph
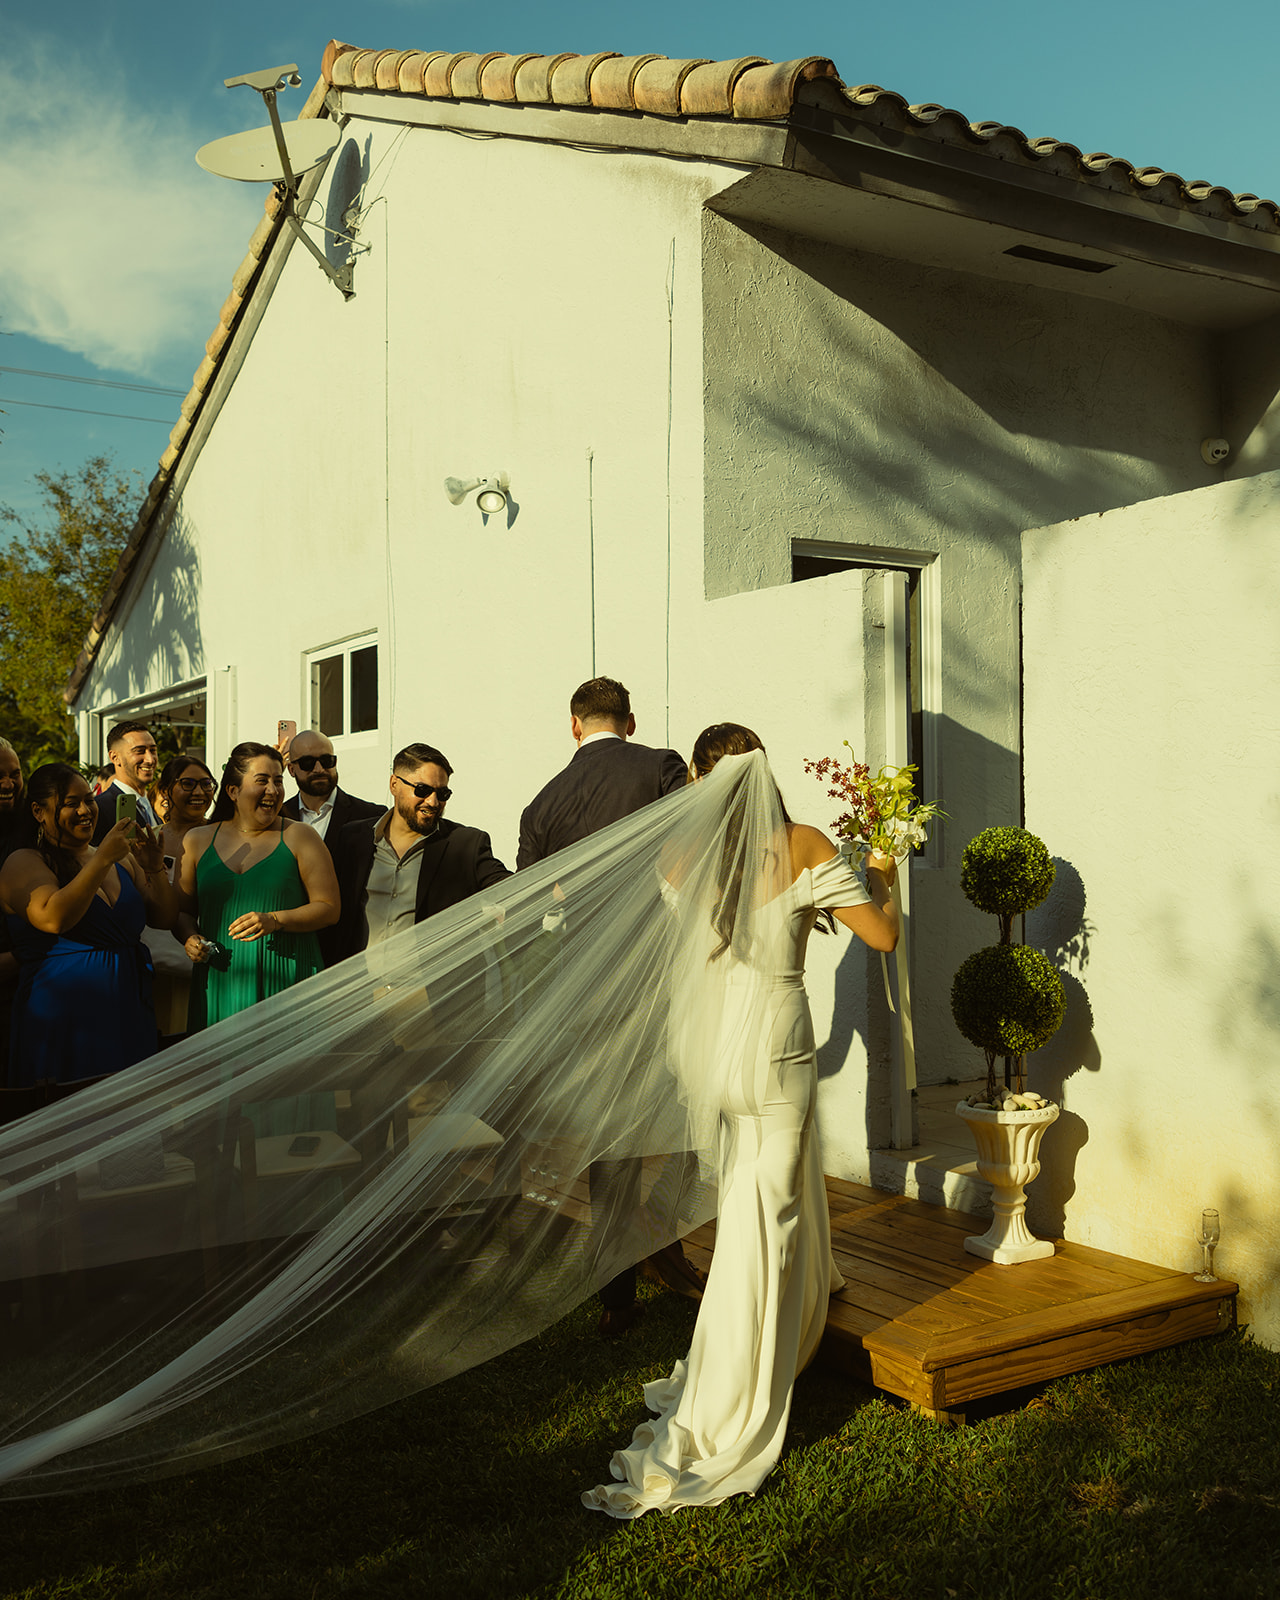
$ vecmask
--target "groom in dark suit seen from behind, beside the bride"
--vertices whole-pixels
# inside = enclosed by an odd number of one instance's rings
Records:
[[[520,818],[517,870],[683,789],[688,779],[685,760],[675,750],[629,742],[635,733],[630,694],[614,678],[589,678],[573,691],[570,731],[578,754]],[[597,1192],[614,1186],[634,1189],[638,1205],[638,1162],[595,1162],[590,1178]],[[678,1240],[650,1256],[646,1266],[667,1288],[682,1294],[702,1291],[701,1274],[685,1261]],[[619,1338],[640,1320],[643,1307],[635,1298],[635,1267],[619,1272],[600,1290],[600,1333],[606,1339]]]

